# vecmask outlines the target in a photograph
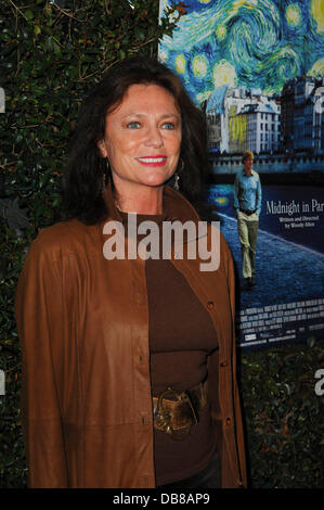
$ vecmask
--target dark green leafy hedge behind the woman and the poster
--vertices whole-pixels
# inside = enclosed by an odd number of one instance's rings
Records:
[[[67,141],[83,94],[118,59],[155,55],[184,12],[157,23],[157,0],[2,0],[0,114],[0,487],[25,487],[21,353],[13,299],[40,228],[60,217]],[[241,387],[252,487],[323,487],[323,397],[314,392],[323,343],[242,353]]]

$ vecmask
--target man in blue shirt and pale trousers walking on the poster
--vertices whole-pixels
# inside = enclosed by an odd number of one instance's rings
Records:
[[[234,208],[237,214],[238,239],[242,250],[243,279],[246,288],[256,283],[256,247],[261,211],[262,191],[259,175],[252,169],[254,153],[243,155],[244,169],[234,182]]]

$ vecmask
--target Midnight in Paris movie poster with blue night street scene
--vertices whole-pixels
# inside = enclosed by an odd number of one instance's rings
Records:
[[[160,0],[161,10],[170,4]],[[235,263],[238,343],[261,348],[323,337],[324,1],[186,0],[183,9],[159,60],[206,114],[205,200]],[[243,276],[234,201],[245,196],[235,178],[246,150],[261,188],[247,234],[256,244],[254,284]]]

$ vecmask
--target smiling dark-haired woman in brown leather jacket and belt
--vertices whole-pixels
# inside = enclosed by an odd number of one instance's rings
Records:
[[[129,256],[131,218],[154,221],[153,244],[166,221],[198,227],[168,184],[180,179],[196,200],[205,132],[179,79],[147,59],[115,64],[85,101],[67,219],[34,241],[16,295],[31,487],[246,484],[223,238],[213,271],[178,257],[176,242],[171,259],[160,244],[155,257]],[[107,256],[112,225],[128,256]],[[181,246],[197,242],[187,233]]]

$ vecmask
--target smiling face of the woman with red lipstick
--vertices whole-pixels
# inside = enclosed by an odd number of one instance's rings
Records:
[[[173,95],[157,85],[132,85],[120,105],[107,114],[104,139],[119,194],[139,187],[160,187],[174,173],[181,144],[181,114]]]

